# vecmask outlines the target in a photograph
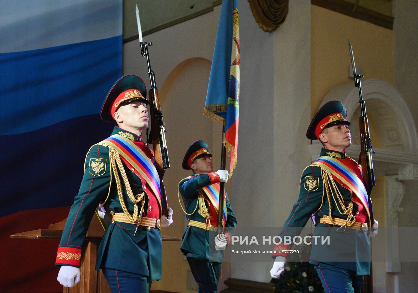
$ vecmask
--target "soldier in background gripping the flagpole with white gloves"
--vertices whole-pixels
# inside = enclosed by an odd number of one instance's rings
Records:
[[[219,182],[228,180],[228,171],[213,172],[211,157],[205,141],[196,140],[192,143],[184,156],[182,167],[192,170],[193,175],[178,184],[179,201],[181,196],[185,206],[182,209],[189,221],[180,249],[199,285],[199,293],[218,292],[222,250],[231,241],[237,224],[225,191],[224,207],[221,209],[224,232],[214,238],[209,237],[209,234],[213,235],[218,230]]]

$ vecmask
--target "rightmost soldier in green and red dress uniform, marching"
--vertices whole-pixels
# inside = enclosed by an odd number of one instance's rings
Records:
[[[370,274],[369,236],[377,234],[379,225],[370,219],[361,167],[345,153],[351,145],[346,117],[345,106],[331,101],[311,121],[306,136],[319,139],[324,148],[319,159],[303,170],[298,201],[279,234],[293,238],[314,215],[314,236],[330,237],[330,245],[312,241],[310,257],[326,293],[361,291],[363,275]],[[273,278],[284,270],[290,249],[291,245],[276,245]]]

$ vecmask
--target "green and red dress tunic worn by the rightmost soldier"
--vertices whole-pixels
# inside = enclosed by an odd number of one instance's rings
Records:
[[[360,165],[344,153],[322,148],[321,156],[336,158],[339,162],[354,171],[357,176],[361,177]],[[330,206],[326,190],[324,190],[324,179],[322,176],[323,172],[321,167],[315,166],[315,163],[303,170],[298,201],[293,205],[293,209],[283,225],[279,236],[282,238],[283,236],[291,236],[293,238],[299,235],[305,224],[314,215],[315,222],[317,223],[314,236],[321,236],[323,239],[329,236],[330,245],[322,245],[320,240],[317,245],[313,242],[310,257],[311,263],[318,264],[318,261],[320,261],[347,268],[356,272],[357,275],[368,275],[370,274],[370,261],[364,261],[370,257],[370,237],[367,235],[367,232],[356,231],[350,228],[344,229],[344,227],[340,228],[333,224],[319,223],[320,218],[330,216],[330,211],[331,216],[334,218],[347,221],[349,214],[352,214],[355,217],[355,222],[368,223],[366,208],[354,196],[353,191],[342,181],[339,181],[338,178],[333,178],[335,186],[344,199],[344,206],[349,207],[352,204],[352,211],[347,214],[342,214],[341,212],[344,213],[342,207],[337,199],[333,199],[332,195],[330,195]],[[280,244],[275,247],[275,250],[289,250],[290,248],[291,246],[289,245]],[[277,255],[288,257],[286,253],[274,254],[273,257]]]

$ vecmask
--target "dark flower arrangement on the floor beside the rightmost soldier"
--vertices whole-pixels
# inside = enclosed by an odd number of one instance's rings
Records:
[[[295,245],[293,250],[299,250],[296,257],[289,259],[280,278],[273,279],[278,292],[283,293],[323,293],[321,280],[314,265],[309,263],[311,245]]]

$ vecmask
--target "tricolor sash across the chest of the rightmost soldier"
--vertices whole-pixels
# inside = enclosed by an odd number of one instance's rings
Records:
[[[369,223],[372,222],[370,221],[370,210],[367,191],[364,187],[362,178],[359,178],[359,176],[357,176],[357,174],[354,173],[354,171],[352,171],[349,167],[344,165],[344,163],[329,156],[319,157],[319,159],[312,163],[312,165],[325,168],[331,173],[333,177],[338,178],[349,189],[351,189],[366,209],[369,218]]]

